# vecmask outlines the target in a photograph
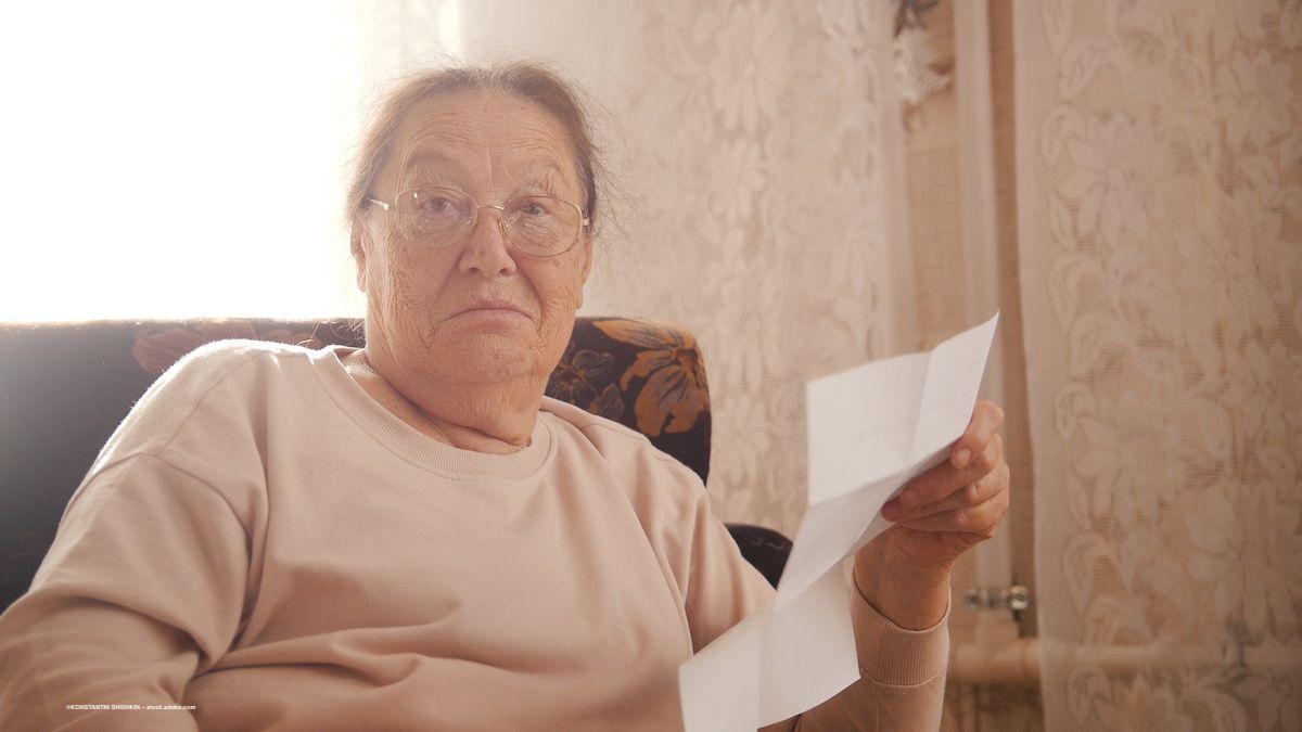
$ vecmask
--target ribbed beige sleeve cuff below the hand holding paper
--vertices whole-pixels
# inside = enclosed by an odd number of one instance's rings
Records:
[[[876,611],[850,585],[850,619],[859,672],[879,684],[915,686],[945,672],[949,663],[949,611],[926,630],[901,628]]]

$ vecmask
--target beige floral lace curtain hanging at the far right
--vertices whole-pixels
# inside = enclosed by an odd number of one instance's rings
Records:
[[[1049,729],[1302,729],[1302,4],[1021,0]]]

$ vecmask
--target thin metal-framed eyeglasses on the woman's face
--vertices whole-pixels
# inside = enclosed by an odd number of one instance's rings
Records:
[[[397,215],[404,238],[430,247],[461,241],[475,228],[480,208],[496,208],[503,237],[534,257],[565,254],[589,225],[577,203],[549,195],[519,195],[503,206],[490,206],[452,188],[418,188],[400,193],[392,203],[367,201]]]

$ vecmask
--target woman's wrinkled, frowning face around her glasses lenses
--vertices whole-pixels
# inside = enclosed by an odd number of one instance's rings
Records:
[[[586,203],[566,130],[505,92],[448,92],[413,108],[371,194],[392,202],[426,186],[492,206],[522,194]],[[367,210],[355,257],[368,350],[418,379],[546,380],[583,302],[591,240],[585,228],[565,254],[533,257],[510,247],[496,214],[480,210],[465,238],[431,249],[398,233],[396,212]]]

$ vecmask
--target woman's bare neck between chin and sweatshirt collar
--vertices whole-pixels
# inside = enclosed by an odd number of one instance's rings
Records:
[[[529,447],[547,379],[522,375],[501,382],[436,382],[406,374],[383,354],[357,350],[345,366],[372,399],[404,422],[461,449],[512,453]]]

